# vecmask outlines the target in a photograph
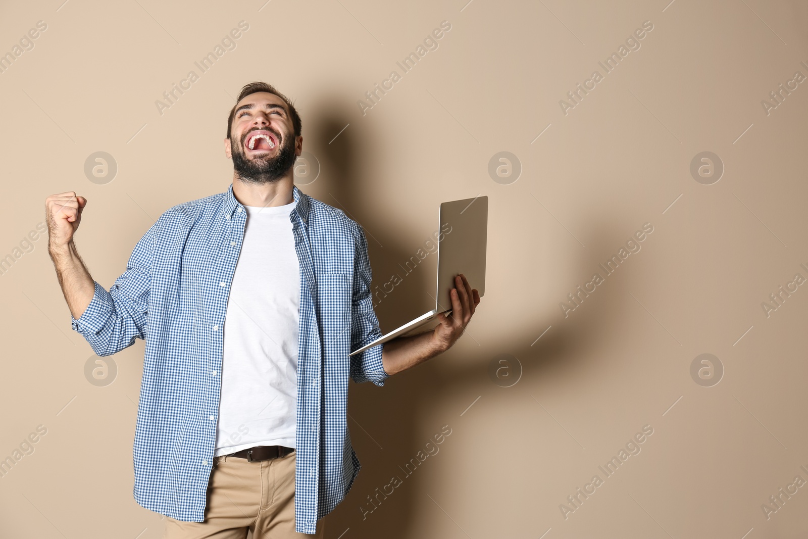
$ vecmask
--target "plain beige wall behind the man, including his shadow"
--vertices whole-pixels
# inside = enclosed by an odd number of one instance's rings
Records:
[[[326,537],[805,537],[808,487],[789,485],[808,481],[808,286],[794,282],[808,279],[808,83],[794,79],[808,77],[808,6],[669,1],[4,2],[0,53],[47,29],[0,74],[0,457],[47,432],[0,478],[0,535],[162,536],[132,496],[144,343],[90,383],[93,352],[36,228],[49,194],[86,196],[77,245],[108,288],[166,208],[226,190],[227,112],[265,80],[296,100],[319,163],[301,188],[364,226],[377,284],[436,229],[440,201],[490,197],[468,335],[383,389],[351,384],[363,470]],[[201,73],[240,21],[236,47]],[[403,73],[442,21],[438,47]],[[646,21],[605,74],[598,62]],[[596,69],[603,80],[563,112]],[[199,79],[158,112],[190,70]],[[392,70],[401,79],[363,114],[357,100]],[[99,151],[117,171],[94,183],[84,166]],[[516,181],[488,172],[503,151]],[[717,182],[691,174],[702,152],[722,163]],[[640,251],[605,276],[598,264],[646,223]],[[378,305],[383,329],[427,310],[435,262]],[[565,316],[595,272],[604,282]],[[692,376],[705,353],[713,376]],[[440,452],[405,477],[444,425]],[[643,427],[640,452],[604,474]],[[402,485],[363,519],[393,475]],[[579,487],[594,493],[576,508]],[[773,512],[780,488],[796,493]]]

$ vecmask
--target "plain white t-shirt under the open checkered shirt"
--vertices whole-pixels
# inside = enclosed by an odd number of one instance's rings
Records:
[[[295,447],[300,265],[284,206],[245,206],[230,284],[214,456],[255,445]]]

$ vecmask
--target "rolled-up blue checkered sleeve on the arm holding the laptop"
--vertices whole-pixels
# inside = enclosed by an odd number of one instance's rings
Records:
[[[353,298],[351,301],[351,350],[363,347],[381,337],[381,329],[373,310],[373,296],[370,289],[372,270],[368,258],[368,240],[364,230],[356,225],[356,254],[354,256]],[[357,383],[372,381],[385,385],[389,374],[381,363],[384,344],[370,347],[351,359],[351,378]]]

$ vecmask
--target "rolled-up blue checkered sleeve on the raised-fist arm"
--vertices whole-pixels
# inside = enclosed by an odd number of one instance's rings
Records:
[[[90,305],[70,324],[98,356],[111,356],[131,346],[135,339],[146,338],[152,265],[158,223],[154,223],[137,242],[126,271],[107,291],[97,281]]]

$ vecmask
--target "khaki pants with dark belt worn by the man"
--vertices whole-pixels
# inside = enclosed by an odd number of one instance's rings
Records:
[[[183,522],[166,516],[165,539],[313,539],[317,533],[295,532],[295,462],[297,451],[268,461],[213,457],[204,522]]]

